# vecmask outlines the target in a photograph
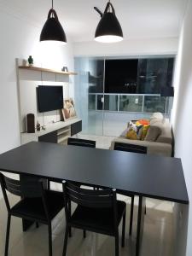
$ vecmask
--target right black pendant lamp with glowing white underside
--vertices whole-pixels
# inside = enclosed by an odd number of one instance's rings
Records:
[[[104,14],[94,7],[101,15],[101,20],[96,27],[95,40],[100,43],[116,43],[123,40],[122,28],[119,20],[115,15],[113,4],[110,1],[107,3]]]

